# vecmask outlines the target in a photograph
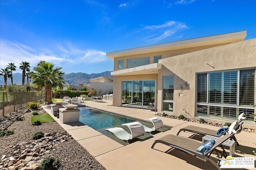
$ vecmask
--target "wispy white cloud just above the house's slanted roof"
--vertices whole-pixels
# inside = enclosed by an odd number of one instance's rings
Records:
[[[166,21],[162,25],[150,25],[145,26],[144,29],[151,30],[153,35],[146,37],[148,41],[160,41],[166,37],[175,35],[177,32],[188,29],[188,26],[185,23],[179,21]]]

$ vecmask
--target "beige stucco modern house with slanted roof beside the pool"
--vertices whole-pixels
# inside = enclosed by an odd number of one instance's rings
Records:
[[[106,53],[113,105],[187,118],[232,121],[256,113],[256,39],[246,31]]]

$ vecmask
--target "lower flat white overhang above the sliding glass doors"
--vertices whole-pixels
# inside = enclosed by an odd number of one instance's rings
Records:
[[[153,63],[144,66],[127,68],[111,72],[112,76],[139,75],[139,74],[158,74],[158,70],[162,69],[162,64]]]

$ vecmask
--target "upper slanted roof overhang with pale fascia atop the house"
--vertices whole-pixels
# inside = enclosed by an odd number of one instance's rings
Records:
[[[244,38],[246,37],[246,34],[247,34],[247,31],[239,31],[234,33],[226,33],[226,34],[213,35],[208,37],[187,39],[187,40],[175,41],[170,43],[149,45],[145,47],[108,52],[106,53],[106,56],[114,61],[114,58],[122,57],[122,56],[139,55],[139,54],[145,54],[145,53],[185,49],[185,48],[192,48],[192,47],[201,47],[206,45],[230,44],[230,43],[243,41]]]

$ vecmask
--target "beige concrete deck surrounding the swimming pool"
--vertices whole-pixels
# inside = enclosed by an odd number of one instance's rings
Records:
[[[150,117],[158,117],[155,111],[148,109],[137,109],[128,107],[111,106],[112,101],[103,100],[103,102],[85,101],[84,104],[88,107],[117,113],[128,117],[144,120]],[[50,106],[42,106],[47,113],[49,113],[57,123],[60,124],[72,137],[82,145],[100,164],[107,170],[214,170],[216,169],[212,164],[203,162],[193,156],[183,154],[178,150],[172,150],[162,144],[156,144],[154,149],[151,149],[155,140],[164,135],[176,135],[179,129],[187,125],[196,125],[198,127],[205,127],[218,130],[219,127],[204,125],[200,123],[193,123],[189,121],[182,121],[178,119],[170,119],[160,117],[164,125],[172,127],[172,129],[160,132],[153,135],[152,138],[144,141],[137,141],[130,145],[123,146],[120,143],[102,135],[98,131],[84,125],[81,122],[61,123],[58,118],[54,117],[50,112]],[[191,133],[181,132],[180,136],[190,137]],[[236,138],[240,147],[236,145],[235,157],[254,157],[252,150],[256,150],[256,134],[242,131],[236,134]],[[156,150],[157,149],[157,150]],[[161,150],[161,151],[159,151]],[[226,151],[229,152],[228,149]],[[215,156],[215,155],[212,155]],[[217,160],[217,158],[216,158]],[[255,163],[256,166],[256,163]],[[251,168],[252,170],[255,168]]]

